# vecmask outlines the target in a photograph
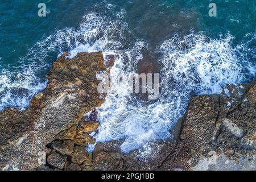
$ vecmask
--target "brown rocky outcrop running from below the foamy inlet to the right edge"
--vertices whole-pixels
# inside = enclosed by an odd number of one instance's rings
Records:
[[[171,131],[174,140],[152,142],[146,157],[141,156],[143,148],[122,154],[111,147],[118,141],[98,143],[93,169],[256,170],[256,79],[242,90],[226,88],[231,97],[194,97]]]

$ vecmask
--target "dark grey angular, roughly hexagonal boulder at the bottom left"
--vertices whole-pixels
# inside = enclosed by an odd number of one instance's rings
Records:
[[[47,163],[53,167],[63,169],[65,162],[67,161],[67,156],[61,155],[60,153],[53,150],[51,154],[47,157]]]

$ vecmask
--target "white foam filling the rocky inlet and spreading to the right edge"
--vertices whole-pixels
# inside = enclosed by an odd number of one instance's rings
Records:
[[[120,19],[106,28],[101,38],[93,44],[77,45],[71,51],[71,57],[77,52],[101,50],[104,56],[118,55],[110,71],[113,78],[119,73],[128,76],[130,72],[135,72],[138,61],[143,59],[141,51],[147,43],[137,40],[124,48],[127,40],[123,34],[129,32],[127,24],[121,22],[124,16],[125,11],[122,10],[118,14]],[[93,35],[98,31],[95,28]],[[113,34],[109,32],[117,32],[119,39],[113,41]],[[245,81],[246,76],[255,73],[254,65],[249,64],[240,53],[245,45],[233,47],[232,40],[231,35],[212,40],[203,34],[193,33],[166,40],[158,48],[163,55],[159,60],[163,64],[160,72],[162,92],[154,103],[137,100],[127,92],[127,82],[119,85],[118,80],[112,80],[106,101],[98,108],[101,125],[94,136],[96,141],[125,139],[121,149],[130,152],[143,148],[152,140],[171,138],[170,130],[184,114],[192,94],[220,93],[221,86]],[[88,150],[93,150],[94,145]],[[144,150],[141,152],[147,153]]]

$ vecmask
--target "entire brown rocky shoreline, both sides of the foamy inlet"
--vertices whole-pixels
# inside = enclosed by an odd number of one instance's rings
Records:
[[[28,109],[0,112],[0,169],[256,170],[256,79],[240,92],[228,85],[230,97],[192,98],[170,131],[174,139],[152,142],[146,157],[142,148],[123,154],[122,140],[97,143],[88,154],[100,125],[94,108],[105,98],[97,93],[96,74],[108,68],[102,52],[67,56],[53,64],[47,88]]]

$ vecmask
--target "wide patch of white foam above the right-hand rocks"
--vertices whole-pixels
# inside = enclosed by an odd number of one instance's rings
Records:
[[[160,46],[163,82],[174,82],[187,93],[212,94],[220,93],[225,84],[246,81],[254,76],[255,65],[240,52],[244,45],[233,47],[232,41],[230,34],[213,40],[193,33],[166,40]]]

